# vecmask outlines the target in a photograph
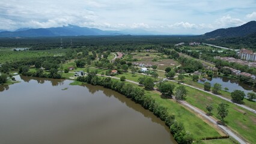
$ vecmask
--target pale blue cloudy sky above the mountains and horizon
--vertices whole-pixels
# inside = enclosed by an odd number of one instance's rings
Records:
[[[256,20],[255,0],[1,0],[0,29],[63,25],[204,34]]]

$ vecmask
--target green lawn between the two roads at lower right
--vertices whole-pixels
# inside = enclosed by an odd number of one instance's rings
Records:
[[[176,87],[178,86],[177,83],[171,82]],[[186,101],[192,104],[195,107],[207,112],[206,106],[212,105],[213,109],[213,116],[217,118],[218,113],[218,104],[225,102],[229,104],[229,113],[228,116],[225,118],[225,122],[228,127],[232,128],[234,131],[239,133],[242,137],[249,140],[249,142],[256,142],[256,115],[255,113],[250,112],[249,110],[245,110],[242,107],[236,106],[233,103],[229,103],[221,98],[218,98],[212,94],[208,94],[203,91],[199,91],[194,88],[190,88],[186,86],[187,89],[187,97]],[[244,115],[244,113],[246,113]]]

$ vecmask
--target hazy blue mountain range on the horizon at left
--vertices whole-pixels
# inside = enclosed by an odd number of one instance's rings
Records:
[[[79,27],[75,25],[57,28],[17,29],[14,32],[0,32],[0,37],[56,37],[78,35],[123,35],[120,31],[102,31],[96,28]]]

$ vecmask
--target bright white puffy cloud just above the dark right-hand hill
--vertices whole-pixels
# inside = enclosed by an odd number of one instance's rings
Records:
[[[230,15],[227,15],[227,16],[221,17],[220,19],[217,19],[215,23],[216,23],[216,26],[219,28],[228,28],[231,26],[243,25],[245,22],[243,20],[236,19],[231,17]]]

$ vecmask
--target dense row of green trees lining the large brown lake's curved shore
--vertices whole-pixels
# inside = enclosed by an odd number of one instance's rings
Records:
[[[112,80],[110,77],[99,77],[96,71],[87,71],[88,75],[85,77],[78,77],[76,80],[79,82],[90,83],[91,85],[104,86],[105,88],[112,89],[125,95],[127,98],[141,104],[145,109],[150,110],[158,118],[165,122],[170,128],[174,139],[178,143],[192,143],[192,134],[188,133],[181,122],[175,121],[175,116],[167,112],[166,107],[160,106],[156,101],[145,95],[144,89],[133,86],[130,83],[124,83]]]

